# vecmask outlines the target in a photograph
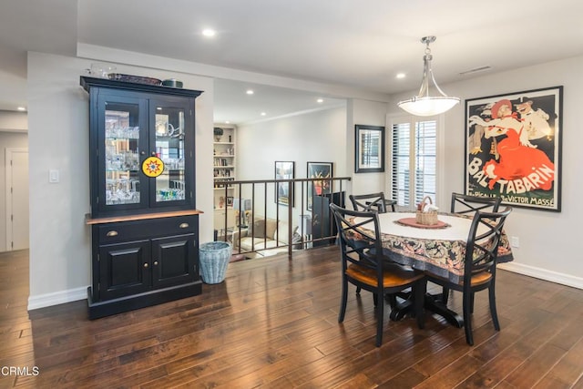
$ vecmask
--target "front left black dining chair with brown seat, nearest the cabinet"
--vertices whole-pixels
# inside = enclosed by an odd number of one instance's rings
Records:
[[[373,293],[377,315],[377,347],[383,343],[384,295],[387,293],[393,294],[412,288],[414,315],[419,328],[423,328],[424,273],[401,266],[384,256],[378,213],[372,210],[345,210],[336,204],[330,204],[330,209],[338,228],[343,271],[338,322],[344,321],[348,284],[352,283],[357,288]]]

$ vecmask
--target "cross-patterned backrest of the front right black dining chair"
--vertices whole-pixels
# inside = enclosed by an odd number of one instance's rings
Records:
[[[510,207],[501,212],[476,210],[465,246],[465,283],[480,271],[496,270],[502,230],[511,211]]]

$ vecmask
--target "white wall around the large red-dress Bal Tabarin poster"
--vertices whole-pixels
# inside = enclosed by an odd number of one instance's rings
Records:
[[[578,246],[581,239],[580,219],[583,207],[583,131],[578,112],[583,99],[583,56],[535,67],[524,67],[496,75],[474,78],[441,86],[449,95],[466,98],[486,97],[520,92],[542,87],[564,86],[562,137],[562,211],[560,213],[515,207],[506,221],[509,235],[520,239],[514,249],[515,261],[503,267],[549,281],[583,288],[583,261]],[[436,75],[439,80],[439,75]],[[394,96],[390,113],[400,113],[396,102],[408,94]],[[464,190],[465,107],[462,103],[445,113],[445,193]],[[439,199],[438,205],[448,209],[449,199]]]

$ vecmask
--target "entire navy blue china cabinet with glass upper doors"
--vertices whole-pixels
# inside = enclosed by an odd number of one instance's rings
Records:
[[[198,90],[81,77],[89,95],[90,319],[201,292]]]

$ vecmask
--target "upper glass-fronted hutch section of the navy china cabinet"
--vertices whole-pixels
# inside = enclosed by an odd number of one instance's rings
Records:
[[[94,77],[81,85],[89,93],[91,217],[194,210],[202,92]]]

